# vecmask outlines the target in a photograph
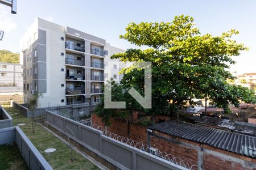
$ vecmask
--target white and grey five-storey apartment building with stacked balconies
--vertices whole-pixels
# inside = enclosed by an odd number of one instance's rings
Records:
[[[106,40],[37,18],[20,40],[24,101],[43,94],[38,107],[100,102],[104,80],[119,81],[124,64],[112,54],[124,52]],[[113,68],[110,68],[113,67]],[[104,78],[104,75],[107,75]]]

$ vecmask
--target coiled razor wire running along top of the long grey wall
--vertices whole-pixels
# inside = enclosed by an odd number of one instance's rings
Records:
[[[184,167],[187,169],[197,169],[197,165],[192,164],[192,162],[188,159],[181,159],[179,156],[167,154],[167,152],[162,152],[158,148],[153,148],[153,147],[148,146],[142,142],[134,141],[133,139],[129,139],[129,138],[123,137],[121,135],[112,133],[112,132],[106,130],[105,128],[103,128],[102,126],[92,123],[90,118],[86,119],[86,120],[82,120],[79,117],[71,116],[71,115],[68,115],[67,113],[63,113],[63,112],[55,112],[55,114],[59,114],[60,116],[63,116],[65,118],[68,118],[68,119],[76,121],[76,122],[79,122],[80,124],[89,126],[90,128],[100,130],[100,131],[102,131],[102,135],[112,138],[115,141],[125,143],[126,145],[129,145],[131,147],[135,147],[141,151],[147,152],[147,153],[151,154],[152,156],[162,158],[164,160],[167,160],[168,162],[180,165],[181,167]]]

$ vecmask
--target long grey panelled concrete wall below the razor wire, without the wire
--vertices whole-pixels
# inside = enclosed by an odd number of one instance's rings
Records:
[[[51,111],[46,112],[46,124],[63,134],[68,134],[70,138],[97,155],[96,158],[105,159],[105,162],[114,164],[116,169],[186,169]]]

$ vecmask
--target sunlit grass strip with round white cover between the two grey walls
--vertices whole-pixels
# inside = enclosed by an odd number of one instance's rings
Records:
[[[35,133],[32,133],[31,118],[24,117],[22,113],[13,108],[6,108],[6,111],[11,112],[11,114],[18,113],[18,115],[14,114],[11,116],[14,119],[13,125],[26,124],[19,127],[24,131],[53,169],[99,169],[76,151],[73,151],[75,161],[72,163],[70,160],[70,148],[60,141],[59,138],[55,137],[55,135],[51,134],[38,124],[36,125]],[[56,148],[56,151],[47,154],[44,152],[47,148]]]

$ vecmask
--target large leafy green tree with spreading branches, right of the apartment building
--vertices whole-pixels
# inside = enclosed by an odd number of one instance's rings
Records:
[[[150,114],[170,114],[192,99],[209,99],[229,111],[228,105],[239,105],[238,99],[255,102],[254,92],[228,84],[234,77],[226,69],[247,48],[232,39],[232,29],[221,36],[201,35],[191,16],[176,16],[171,23],[130,23],[121,39],[146,49],[127,49],[114,54],[124,62],[152,62],[152,109]],[[121,84],[143,92],[143,70],[123,69]]]

